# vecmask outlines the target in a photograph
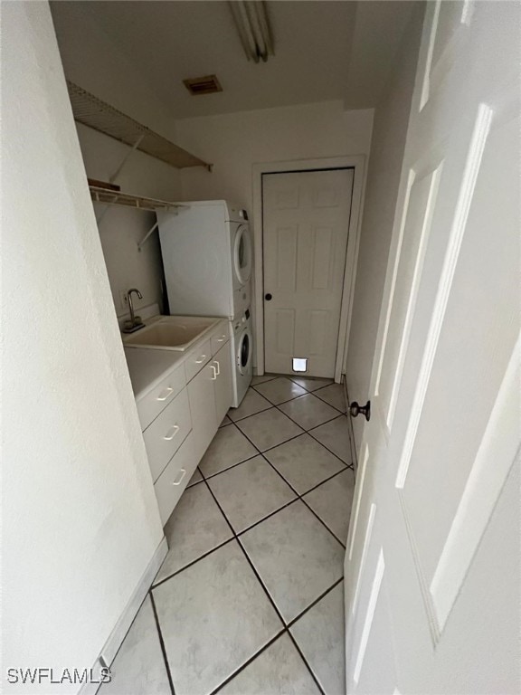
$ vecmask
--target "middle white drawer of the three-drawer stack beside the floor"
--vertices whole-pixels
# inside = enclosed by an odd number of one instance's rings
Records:
[[[190,405],[186,389],[165,410],[157,415],[156,420],[149,424],[143,433],[145,446],[147,447],[148,463],[152,478],[157,480],[166,463],[175,454],[186,435],[192,429]]]

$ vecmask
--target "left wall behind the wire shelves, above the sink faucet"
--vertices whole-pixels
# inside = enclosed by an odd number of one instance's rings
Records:
[[[128,146],[96,130],[78,124],[81,153],[87,175],[109,181],[117,171]],[[126,193],[150,195],[163,200],[178,200],[181,196],[179,169],[134,152],[121,170],[115,183]],[[103,214],[106,205],[95,205],[96,214]],[[99,223],[99,236],[109,272],[110,289],[118,316],[125,316],[128,307],[121,301],[121,293],[137,287],[143,300],[134,296],[134,306],[161,306],[161,251],[158,234],[149,237],[141,251],[139,243],[156,222],[156,214],[126,209],[113,205],[103,214]]]

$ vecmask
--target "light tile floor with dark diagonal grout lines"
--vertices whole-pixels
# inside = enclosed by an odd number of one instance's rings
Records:
[[[345,413],[330,379],[254,377],[168,519],[99,695],[342,695]]]

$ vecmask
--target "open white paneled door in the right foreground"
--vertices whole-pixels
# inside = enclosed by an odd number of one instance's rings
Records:
[[[346,548],[348,693],[519,692],[519,27],[426,4]]]

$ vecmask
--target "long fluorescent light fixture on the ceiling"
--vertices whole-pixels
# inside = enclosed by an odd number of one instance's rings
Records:
[[[232,0],[228,5],[248,60],[266,62],[269,55],[275,55],[264,0]]]

